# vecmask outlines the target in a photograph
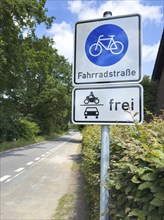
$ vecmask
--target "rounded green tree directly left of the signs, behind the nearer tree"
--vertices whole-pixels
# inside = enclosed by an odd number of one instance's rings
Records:
[[[62,129],[70,115],[71,66],[49,38],[27,38],[23,47],[20,111],[30,114],[43,133]]]

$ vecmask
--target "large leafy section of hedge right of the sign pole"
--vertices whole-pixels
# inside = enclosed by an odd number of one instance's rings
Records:
[[[112,219],[162,220],[164,216],[164,121],[112,127]]]

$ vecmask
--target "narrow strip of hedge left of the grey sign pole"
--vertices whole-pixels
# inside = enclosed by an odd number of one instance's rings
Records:
[[[99,126],[86,126],[83,131],[82,171],[86,177],[86,199],[91,220],[98,220],[99,210],[99,171],[100,171],[100,135]]]

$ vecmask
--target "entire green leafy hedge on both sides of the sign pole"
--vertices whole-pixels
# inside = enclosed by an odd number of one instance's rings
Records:
[[[83,172],[90,219],[99,219],[100,127],[83,130]],[[110,217],[163,220],[164,120],[140,126],[111,126]]]

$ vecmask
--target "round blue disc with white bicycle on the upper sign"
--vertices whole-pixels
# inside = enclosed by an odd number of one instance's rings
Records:
[[[127,49],[128,37],[125,31],[113,24],[95,28],[85,42],[88,59],[98,66],[111,66],[119,62]]]

